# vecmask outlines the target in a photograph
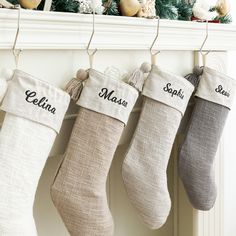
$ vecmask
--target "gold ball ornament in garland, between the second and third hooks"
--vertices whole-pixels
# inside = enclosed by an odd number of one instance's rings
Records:
[[[120,11],[123,16],[135,16],[141,9],[141,4],[138,0],[121,0]]]

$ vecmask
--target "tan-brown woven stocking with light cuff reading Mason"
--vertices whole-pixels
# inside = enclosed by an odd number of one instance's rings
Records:
[[[106,180],[137,97],[132,86],[89,71],[64,161],[51,188],[52,200],[72,236],[113,235]]]

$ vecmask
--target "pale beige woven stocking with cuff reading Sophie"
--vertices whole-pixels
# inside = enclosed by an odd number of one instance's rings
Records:
[[[171,201],[166,169],[193,86],[185,78],[152,67],[143,89],[142,112],[126,154],[122,175],[127,194],[143,222],[161,227]]]

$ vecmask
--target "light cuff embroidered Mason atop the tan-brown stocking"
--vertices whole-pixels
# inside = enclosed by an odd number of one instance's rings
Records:
[[[137,98],[132,86],[91,69],[77,104],[126,124]]]

